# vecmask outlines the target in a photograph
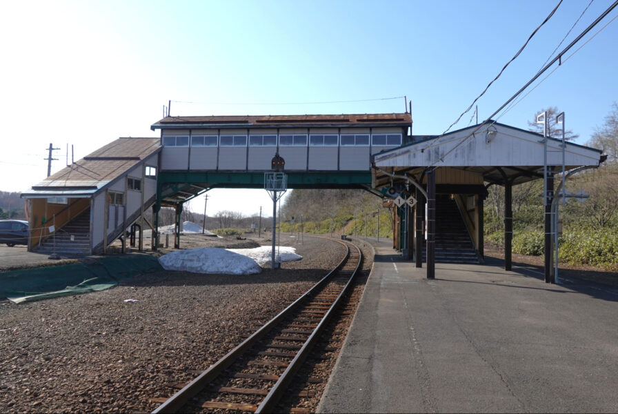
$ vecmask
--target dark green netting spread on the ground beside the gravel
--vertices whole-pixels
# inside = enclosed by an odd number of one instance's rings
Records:
[[[0,273],[0,295],[19,303],[87,293],[161,269],[156,257],[133,254],[101,257],[88,263],[10,270]]]

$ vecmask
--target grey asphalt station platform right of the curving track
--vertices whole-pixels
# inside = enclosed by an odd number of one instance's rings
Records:
[[[615,412],[618,289],[489,259],[433,280],[375,242],[321,413]]]

